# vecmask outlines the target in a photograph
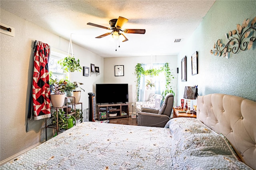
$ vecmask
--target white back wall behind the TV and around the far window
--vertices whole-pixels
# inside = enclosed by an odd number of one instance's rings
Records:
[[[132,103],[136,102],[136,76],[134,75],[137,63],[151,63],[151,56],[136,57],[110,57],[104,58],[104,83],[128,83],[129,91],[129,112],[132,112]],[[172,87],[177,91],[177,55],[153,55],[152,63],[170,63],[170,71],[175,79],[172,81]],[[124,76],[115,76],[114,66],[124,65]],[[174,99],[176,101],[176,97]],[[176,103],[176,102],[175,102]],[[135,108],[134,108],[135,112]]]

